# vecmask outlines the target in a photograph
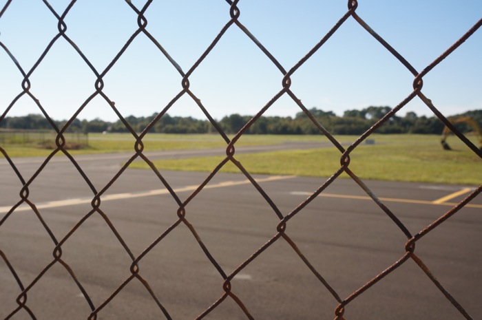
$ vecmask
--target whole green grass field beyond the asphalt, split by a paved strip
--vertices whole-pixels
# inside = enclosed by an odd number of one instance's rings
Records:
[[[335,136],[339,142],[350,144],[356,136]],[[359,145],[350,153],[349,168],[360,178],[374,180],[439,182],[448,184],[482,183],[482,160],[455,137],[448,139],[452,151],[443,150],[439,136],[430,135],[373,135],[374,145]],[[284,142],[328,141],[322,136],[242,136],[236,146],[275,145]],[[143,139],[144,151],[174,149],[209,149],[226,147],[226,142],[215,135],[151,134]],[[476,141],[474,141],[474,144]],[[89,135],[89,147],[69,151],[84,153],[133,152],[135,140],[128,134]],[[52,152],[28,146],[6,145],[12,158],[47,156]],[[341,153],[335,147],[252,153],[235,155],[250,173],[276,175],[307,175],[328,177],[340,167]],[[205,157],[154,162],[160,170],[213,171],[224,158]],[[132,168],[149,167],[138,161]],[[223,172],[240,172],[228,162]],[[342,175],[347,177],[347,175]]]

